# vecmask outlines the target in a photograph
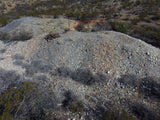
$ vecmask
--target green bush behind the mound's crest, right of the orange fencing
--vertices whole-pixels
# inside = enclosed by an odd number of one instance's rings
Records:
[[[118,32],[127,33],[130,29],[130,25],[124,22],[114,21],[111,22],[112,29]]]

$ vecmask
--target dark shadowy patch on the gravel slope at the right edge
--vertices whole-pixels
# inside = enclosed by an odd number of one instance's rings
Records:
[[[118,80],[122,86],[137,88],[138,92],[150,98],[160,99],[160,78],[144,77],[136,75],[122,75]]]

